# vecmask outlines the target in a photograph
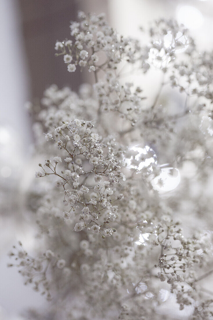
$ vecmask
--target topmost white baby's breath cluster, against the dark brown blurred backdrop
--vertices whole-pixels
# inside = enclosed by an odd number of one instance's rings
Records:
[[[79,12],[79,18],[81,22],[70,25],[74,40],[57,41],[55,44],[55,50],[61,51],[56,55],[64,55],[69,72],[74,72],[77,65],[80,68],[87,66],[91,72],[103,68],[116,69],[122,60],[130,63],[144,60],[139,41],[114,32],[104,14],[96,16]]]

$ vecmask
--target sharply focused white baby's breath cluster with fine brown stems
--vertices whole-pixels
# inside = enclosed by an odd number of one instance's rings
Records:
[[[123,178],[120,171],[122,161],[118,163],[118,156],[108,153],[107,146],[101,143],[99,135],[93,133],[92,128],[91,122],[75,119],[63,121],[61,126],[54,129],[54,136],[47,133],[45,139],[54,140],[59,150],[67,155],[63,161],[64,167],[60,168],[60,172],[56,170],[62,159],[55,156],[52,160],[45,160],[44,165],[39,164],[43,173],[36,172],[35,176],[55,175],[60,178],[56,185],[63,188],[63,202],[69,207],[63,212],[63,217],[73,220],[77,215],[81,222],[75,224],[75,231],[86,228],[105,238],[116,231],[109,225],[109,220],[114,221],[117,217],[115,204],[121,199],[115,186],[119,178]],[[84,167],[88,168],[87,171]],[[90,181],[88,188],[86,180],[92,176],[94,184],[92,186]]]

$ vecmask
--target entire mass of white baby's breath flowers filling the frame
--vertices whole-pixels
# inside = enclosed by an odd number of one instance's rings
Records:
[[[212,292],[200,281],[213,273],[212,54],[199,55],[173,20],[157,20],[142,46],[118,35],[104,15],[79,18],[73,40],[55,49],[68,71],[87,67],[95,84],[78,94],[52,85],[34,114],[36,152],[45,160],[33,209],[44,241],[35,259],[14,248],[14,265],[55,297],[54,320],[166,319],[162,290],[176,296],[183,316],[208,319]],[[124,66],[162,71],[151,102],[122,80]],[[159,103],[169,84],[187,98],[175,112],[170,94]]]

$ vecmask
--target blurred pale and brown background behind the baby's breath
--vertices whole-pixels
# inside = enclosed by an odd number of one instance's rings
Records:
[[[22,319],[25,309],[46,303],[23,286],[15,268],[7,268],[7,253],[18,240],[26,249],[36,246],[25,193],[39,160],[31,159],[33,119],[25,102],[41,98],[51,84],[77,91],[90,82],[88,73],[70,74],[54,56],[56,40],[69,37],[69,22],[79,10],[105,12],[119,33],[138,38],[139,26],[173,17],[190,29],[200,50],[213,46],[213,0],[0,0],[0,319]],[[158,83],[156,76],[141,86],[148,94]]]

